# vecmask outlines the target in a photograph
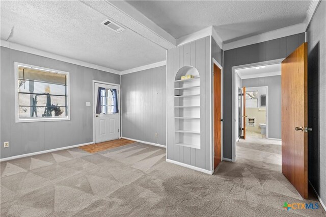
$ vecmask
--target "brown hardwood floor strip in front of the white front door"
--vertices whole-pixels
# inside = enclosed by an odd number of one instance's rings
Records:
[[[102,143],[96,143],[96,144],[91,144],[91,145],[85,145],[85,146],[80,146],[79,148],[87,151],[89,153],[96,153],[99,151],[104,151],[124,145],[129,145],[131,143],[134,143],[134,141],[126,140],[126,139],[118,139],[118,140],[111,140],[107,142],[102,142]]]

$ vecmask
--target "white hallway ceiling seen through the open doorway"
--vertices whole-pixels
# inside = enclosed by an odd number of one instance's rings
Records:
[[[251,68],[244,68],[244,69],[237,69],[236,72],[239,74],[239,76],[243,79],[246,77],[261,77],[262,75],[264,76],[269,76],[269,75],[276,75],[276,74],[281,74],[281,64],[270,64],[264,66],[262,68],[261,66],[259,68],[256,67],[251,67]]]

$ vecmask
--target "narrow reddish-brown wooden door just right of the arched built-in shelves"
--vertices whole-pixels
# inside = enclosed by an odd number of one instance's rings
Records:
[[[221,69],[213,64],[213,100],[214,100],[214,170],[221,162],[221,144],[222,144],[222,119],[221,119]]]

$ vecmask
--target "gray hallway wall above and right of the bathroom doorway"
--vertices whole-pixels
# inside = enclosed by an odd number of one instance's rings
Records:
[[[242,87],[268,86],[268,137],[281,139],[281,75],[242,79]]]

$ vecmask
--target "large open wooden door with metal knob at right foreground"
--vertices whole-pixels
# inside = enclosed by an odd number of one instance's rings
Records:
[[[308,198],[307,43],[282,62],[282,173]]]

